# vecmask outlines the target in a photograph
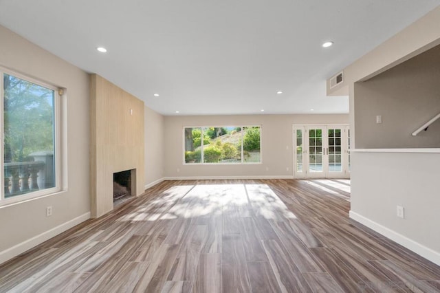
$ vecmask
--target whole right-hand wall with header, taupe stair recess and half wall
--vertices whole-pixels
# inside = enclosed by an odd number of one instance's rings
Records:
[[[440,110],[439,57],[430,61],[419,55],[440,44],[439,23],[440,7],[345,68],[344,84],[327,92],[349,94],[355,149],[376,149],[352,153],[350,216],[440,265],[433,224],[440,220],[438,149],[389,149],[439,147],[439,122],[410,137]],[[376,115],[382,115],[382,124],[375,123]],[[404,206],[405,219],[397,218],[398,205]]]

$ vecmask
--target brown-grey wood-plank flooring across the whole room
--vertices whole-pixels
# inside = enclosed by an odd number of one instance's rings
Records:
[[[0,292],[440,292],[349,180],[166,181],[0,266]]]

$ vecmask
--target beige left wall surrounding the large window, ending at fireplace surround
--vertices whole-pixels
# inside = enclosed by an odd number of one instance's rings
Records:
[[[89,78],[82,70],[0,26],[0,65],[65,87],[63,191],[0,208],[0,263],[89,218]],[[66,145],[67,143],[67,145]],[[45,216],[47,206],[52,217]],[[36,237],[32,239],[32,237]]]

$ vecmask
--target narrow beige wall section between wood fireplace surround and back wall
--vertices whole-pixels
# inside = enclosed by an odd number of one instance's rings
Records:
[[[164,177],[164,116],[144,107],[145,188]]]

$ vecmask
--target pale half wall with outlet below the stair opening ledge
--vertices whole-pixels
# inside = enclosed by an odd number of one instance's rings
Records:
[[[439,166],[440,153],[352,153],[351,217],[440,265]]]

